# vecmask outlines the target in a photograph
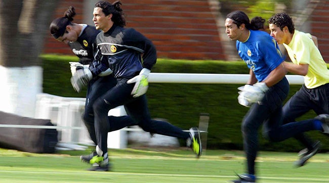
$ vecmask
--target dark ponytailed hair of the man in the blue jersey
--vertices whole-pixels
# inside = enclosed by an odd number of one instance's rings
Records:
[[[264,29],[265,19],[262,17],[255,17],[250,22],[249,17],[242,11],[235,11],[229,13],[226,18],[233,20],[233,23],[240,27],[241,24],[244,24],[248,30],[259,30]]]

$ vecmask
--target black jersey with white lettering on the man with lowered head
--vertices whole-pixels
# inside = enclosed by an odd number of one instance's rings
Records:
[[[100,30],[97,30],[94,26],[87,25],[76,41],[68,43],[72,52],[79,58],[80,64],[88,65],[93,62],[93,44],[99,32]]]

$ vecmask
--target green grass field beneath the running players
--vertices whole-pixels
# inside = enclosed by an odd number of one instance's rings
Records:
[[[243,173],[241,151],[207,150],[196,159],[182,149],[109,150],[112,171],[86,171],[86,151],[31,154],[0,149],[0,182],[227,182]],[[258,182],[329,182],[329,154],[317,154],[295,168],[296,153],[260,152]]]

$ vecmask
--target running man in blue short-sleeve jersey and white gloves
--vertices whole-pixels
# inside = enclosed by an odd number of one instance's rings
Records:
[[[255,160],[258,151],[258,130],[263,124],[264,135],[273,142],[280,142],[295,134],[309,130],[328,133],[329,116],[319,115],[298,123],[282,123],[282,103],[289,93],[287,73],[278,44],[263,29],[265,20],[255,17],[250,22],[241,11],[226,16],[227,36],[236,40],[241,59],[250,69],[250,79],[241,89],[239,104],[250,107],[241,125],[243,148],[246,154],[248,173],[238,174],[232,182],[256,182]]]

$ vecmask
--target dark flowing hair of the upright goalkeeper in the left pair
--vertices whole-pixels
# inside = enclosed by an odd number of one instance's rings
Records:
[[[121,9],[122,3],[120,1],[115,1],[114,3],[109,3],[107,1],[100,1],[96,3],[95,8],[101,8],[105,16],[112,14],[111,20],[114,24],[124,27],[126,26],[126,19],[123,10]]]

